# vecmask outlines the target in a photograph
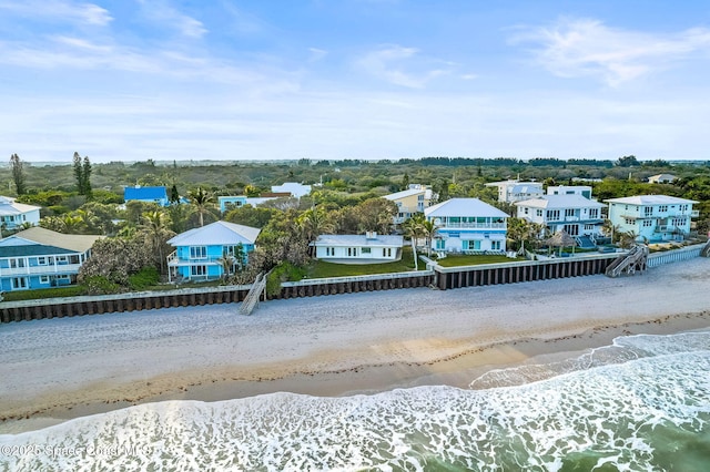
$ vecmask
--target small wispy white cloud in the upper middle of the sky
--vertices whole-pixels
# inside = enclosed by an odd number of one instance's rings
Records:
[[[420,59],[419,50],[388,44],[361,58],[357,65],[371,75],[392,84],[423,89],[434,78],[448,74],[447,69],[432,69],[434,61]]]

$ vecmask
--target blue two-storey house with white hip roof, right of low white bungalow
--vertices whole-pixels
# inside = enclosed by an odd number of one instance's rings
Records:
[[[436,234],[432,249],[505,253],[508,214],[478,198],[452,198],[424,211]]]

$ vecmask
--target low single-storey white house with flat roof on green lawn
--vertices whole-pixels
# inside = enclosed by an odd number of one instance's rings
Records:
[[[312,243],[315,258],[337,264],[382,264],[402,259],[404,237],[378,235],[321,235]]]

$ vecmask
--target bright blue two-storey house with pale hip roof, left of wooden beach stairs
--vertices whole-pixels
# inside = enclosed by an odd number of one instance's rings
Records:
[[[172,237],[168,244],[175,250],[168,256],[169,280],[213,280],[233,274],[247,263],[260,232],[214,222]]]

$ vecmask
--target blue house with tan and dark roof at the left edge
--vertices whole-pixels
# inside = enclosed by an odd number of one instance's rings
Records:
[[[91,247],[102,237],[69,235],[34,226],[0,239],[0,289],[13,291],[75,284]]]

